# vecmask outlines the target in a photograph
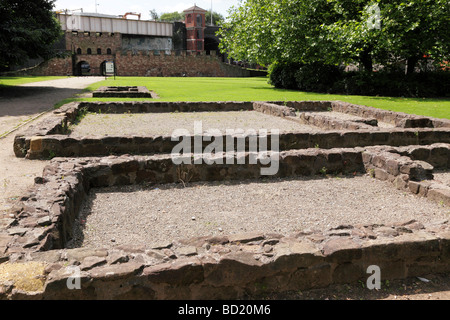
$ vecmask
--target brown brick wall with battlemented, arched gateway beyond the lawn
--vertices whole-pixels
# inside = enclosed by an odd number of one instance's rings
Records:
[[[163,77],[248,77],[263,76],[238,66],[225,64],[215,52],[189,54],[186,51],[126,50],[119,33],[72,32],[65,33],[68,57],[53,58],[35,68],[21,71],[28,75],[81,75],[79,64],[89,63],[90,75],[102,75],[102,63],[115,61],[118,76]],[[88,53],[88,50],[90,53]],[[99,51],[98,51],[99,50]],[[177,54],[177,52],[179,54]],[[72,55],[72,56],[70,56]]]

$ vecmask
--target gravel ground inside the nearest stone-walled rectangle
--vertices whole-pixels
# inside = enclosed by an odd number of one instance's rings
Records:
[[[167,242],[250,231],[284,235],[341,224],[449,217],[449,208],[366,175],[91,191],[70,247]]]

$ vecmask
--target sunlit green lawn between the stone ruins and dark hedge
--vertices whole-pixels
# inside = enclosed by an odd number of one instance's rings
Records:
[[[345,96],[276,89],[267,78],[135,78],[116,77],[90,86],[146,86],[161,101],[289,101],[341,100],[385,110],[450,119],[450,99]],[[89,101],[126,101],[146,99],[89,98]]]

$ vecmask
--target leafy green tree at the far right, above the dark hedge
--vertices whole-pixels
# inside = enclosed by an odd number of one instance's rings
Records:
[[[353,60],[359,57],[368,71],[374,62],[406,60],[407,73],[412,73],[424,56],[436,61],[449,58],[448,0],[332,2],[336,12],[360,10],[323,29],[336,48]],[[369,23],[374,19],[376,26]]]

